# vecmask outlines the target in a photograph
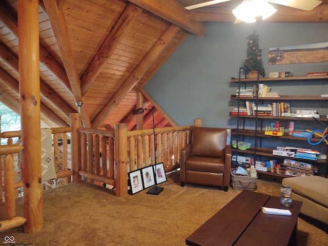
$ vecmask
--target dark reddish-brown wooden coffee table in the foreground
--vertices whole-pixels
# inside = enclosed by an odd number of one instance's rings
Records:
[[[292,216],[270,215],[262,207],[285,209],[279,197],[242,191],[186,239],[191,246],[296,245],[302,202],[293,201]]]

